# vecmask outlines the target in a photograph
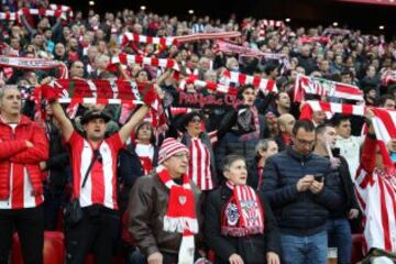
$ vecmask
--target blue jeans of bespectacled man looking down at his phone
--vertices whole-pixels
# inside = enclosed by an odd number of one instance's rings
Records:
[[[327,264],[327,232],[297,237],[280,234],[282,264]]]

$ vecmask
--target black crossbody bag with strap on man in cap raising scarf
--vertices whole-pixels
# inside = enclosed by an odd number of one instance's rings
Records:
[[[98,150],[94,151],[94,156],[92,156],[91,163],[89,164],[89,167],[82,179],[81,189],[85,187],[85,185],[87,183],[88,174],[92,169],[92,166],[94,166],[94,163],[96,160],[101,162],[101,155]],[[82,208],[79,202],[79,197],[75,197],[69,204],[67,204],[67,206],[65,207],[65,210],[64,210],[64,217],[65,217],[65,222],[70,226],[74,226],[74,224],[78,223],[79,221],[81,221],[81,219],[84,217],[84,211],[82,211]]]

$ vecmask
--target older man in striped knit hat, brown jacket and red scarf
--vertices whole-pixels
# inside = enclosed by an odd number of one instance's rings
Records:
[[[158,156],[160,166],[132,188],[129,230],[148,264],[191,264],[198,199],[187,175],[189,151],[168,138]]]

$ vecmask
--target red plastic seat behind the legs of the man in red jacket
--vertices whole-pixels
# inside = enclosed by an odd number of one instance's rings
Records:
[[[62,264],[65,261],[66,250],[64,234],[58,231],[44,232],[44,264]],[[21,243],[15,233],[12,238],[11,263],[23,264]]]

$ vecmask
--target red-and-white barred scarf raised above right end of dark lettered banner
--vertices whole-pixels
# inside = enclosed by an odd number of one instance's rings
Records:
[[[224,70],[221,81],[223,81],[224,85],[230,82],[235,82],[239,85],[252,85],[255,88],[262,90],[264,94],[277,92],[275,80],[264,79],[257,76],[244,75],[230,70]]]

